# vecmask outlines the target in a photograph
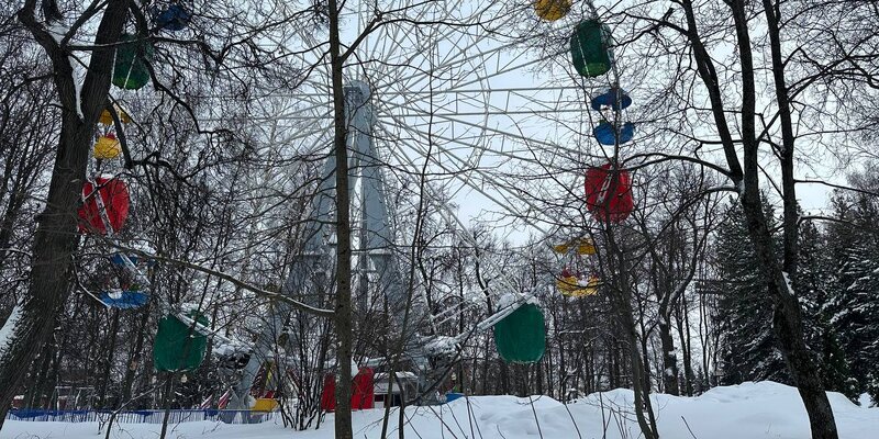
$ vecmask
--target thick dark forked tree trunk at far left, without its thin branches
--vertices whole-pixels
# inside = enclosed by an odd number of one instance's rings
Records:
[[[37,217],[27,294],[15,305],[0,340],[0,426],[10,402],[19,392],[27,365],[55,328],[57,309],[70,292],[70,261],[79,246],[77,209],[86,176],[94,124],[107,102],[114,49],[129,2],[111,0],[98,26],[89,69],[81,92],[74,81],[65,49],[34,16],[35,0],[27,0],[19,20],[31,31],[52,59],[54,81],[62,103],[62,133],[49,180],[46,207]],[[79,114],[82,114],[80,119]]]

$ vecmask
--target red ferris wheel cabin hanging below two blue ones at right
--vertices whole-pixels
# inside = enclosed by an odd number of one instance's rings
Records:
[[[620,223],[635,209],[632,178],[611,164],[586,172],[586,209],[598,221]]]

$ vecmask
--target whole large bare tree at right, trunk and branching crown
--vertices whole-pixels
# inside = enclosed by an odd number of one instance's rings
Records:
[[[803,341],[801,309],[788,279],[798,269],[798,160],[808,160],[805,155],[812,153],[805,151],[825,146],[820,140],[822,132],[846,132],[848,127],[816,125],[806,134],[798,126],[830,113],[823,91],[825,87],[838,85],[864,90],[865,85],[872,80],[867,66],[877,56],[876,34],[864,34],[858,30],[875,22],[875,14],[868,18],[868,11],[874,11],[875,5],[846,3],[847,13],[858,18],[852,25],[832,23],[839,8],[832,2],[782,4],[767,0],[761,3],[730,1],[706,4],[683,0],[667,10],[649,10],[652,7],[623,11],[625,20],[639,23],[632,41],[643,41],[645,47],[653,48],[664,42],[675,42],[683,44],[686,50],[668,53],[668,57],[663,58],[671,59],[679,68],[657,82],[681,83],[677,80],[688,81],[692,77],[700,81],[698,88],[687,89],[690,94],[678,95],[677,91],[665,89],[675,98],[668,99],[669,94],[666,94],[665,103],[657,102],[657,106],[664,108],[686,105],[687,110],[679,113],[679,117],[687,114],[701,122],[691,127],[687,126],[691,125],[690,122],[685,122],[687,128],[678,136],[681,139],[689,136],[693,145],[690,150],[685,154],[663,151],[659,156],[710,167],[723,173],[738,193],[750,245],[760,262],[767,294],[775,304],[774,328],[778,346],[809,413],[812,435],[815,438],[835,438],[833,413],[819,368]],[[723,55],[730,59],[728,65],[717,59],[721,42],[734,46],[732,54]],[[663,47],[665,52],[674,46]],[[809,55],[815,53],[821,54],[820,60]],[[758,76],[761,68],[770,69],[772,76]],[[668,82],[664,82],[666,79]],[[772,91],[766,102],[761,101],[760,87]],[[693,100],[706,102],[708,108],[700,110]],[[666,130],[681,132],[679,126],[668,124]],[[815,140],[809,137],[812,135]],[[715,145],[720,150],[705,155],[701,150],[705,145]],[[800,148],[805,149],[800,153]],[[723,157],[724,164],[712,162],[712,156]],[[761,199],[760,189],[766,182],[775,185],[783,204],[780,252],[776,251],[772,230],[764,215],[767,201]]]

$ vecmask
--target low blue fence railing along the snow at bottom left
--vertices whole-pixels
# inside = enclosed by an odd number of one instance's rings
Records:
[[[97,423],[108,421],[110,410],[45,410],[12,409],[7,413],[7,420],[56,421],[56,423]],[[259,424],[272,420],[278,412],[218,410],[218,409],[175,409],[168,414],[168,424],[192,423],[199,420],[223,421],[226,424]],[[120,424],[162,424],[165,410],[129,410],[116,414],[113,423]]]

